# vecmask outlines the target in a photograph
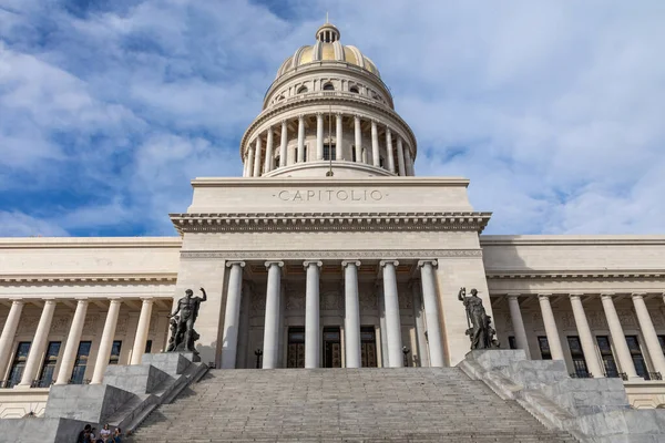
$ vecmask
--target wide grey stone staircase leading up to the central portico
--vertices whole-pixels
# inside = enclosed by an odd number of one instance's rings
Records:
[[[211,370],[130,442],[575,442],[458,368]]]

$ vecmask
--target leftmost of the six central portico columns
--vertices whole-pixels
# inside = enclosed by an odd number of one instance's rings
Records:
[[[244,261],[228,261],[228,288],[224,313],[224,336],[222,339],[222,369],[235,369],[238,352],[238,327],[241,324],[241,302],[243,290]]]

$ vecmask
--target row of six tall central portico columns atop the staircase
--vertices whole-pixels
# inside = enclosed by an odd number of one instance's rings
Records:
[[[318,368],[320,360],[320,310],[319,310],[319,277],[320,260],[306,260],[305,284],[305,368]],[[385,309],[387,367],[399,368],[402,361],[401,320],[397,289],[397,260],[381,260],[379,267],[383,281],[383,297],[380,300]],[[229,261],[229,282],[225,311],[222,368],[236,368],[238,348],[239,307],[242,303],[242,275],[244,261]],[[284,261],[266,261],[268,280],[266,288],[266,312],[263,343],[263,368],[274,369],[278,361],[279,323],[280,323],[280,282]],[[344,274],[345,297],[345,360],[347,368],[360,368],[360,303],[358,298],[358,268],[356,259],[340,262]],[[436,290],[436,260],[420,260],[420,281],[427,319],[427,337],[429,343],[429,361],[432,367],[443,365],[443,343],[439,324],[438,296]],[[381,328],[383,331],[383,328]],[[386,359],[387,357],[387,359]]]

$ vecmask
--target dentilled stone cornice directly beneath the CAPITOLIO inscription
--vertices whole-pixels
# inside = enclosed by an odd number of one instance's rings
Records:
[[[242,213],[171,214],[178,233],[472,230],[491,213]]]

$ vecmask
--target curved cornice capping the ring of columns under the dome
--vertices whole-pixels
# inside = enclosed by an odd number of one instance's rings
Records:
[[[256,116],[256,119],[254,119],[252,124],[249,124],[249,126],[247,127],[245,133],[243,134],[243,138],[241,140],[241,158],[243,157],[243,147],[246,146],[246,144],[248,142],[247,138],[266,120],[269,120],[269,119],[272,119],[276,115],[279,115],[291,109],[303,107],[304,105],[309,105],[309,104],[321,104],[321,103],[327,103],[330,101],[336,102],[336,103],[342,103],[342,104],[351,103],[354,105],[365,106],[366,109],[368,109],[370,111],[379,112],[379,113],[382,113],[382,114],[389,116],[390,119],[397,120],[397,122],[400,125],[402,125],[403,128],[406,128],[408,136],[411,138],[408,142],[409,142],[409,145],[411,146],[411,148],[413,150],[413,157],[417,156],[418,143],[416,141],[416,134],[413,133],[411,127],[408,125],[408,123],[405,122],[402,120],[402,117],[399,116],[399,114],[395,110],[391,110],[390,107],[381,104],[380,102],[360,97],[360,96],[357,96],[356,94],[344,94],[344,93],[336,94],[336,92],[334,92],[334,91],[330,91],[326,94],[325,92],[327,92],[327,91],[311,92],[308,94],[303,94],[301,97],[296,96],[295,99],[291,99],[284,104],[275,105],[273,107],[269,107],[269,109],[263,111],[260,114],[258,114]]]

